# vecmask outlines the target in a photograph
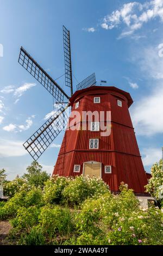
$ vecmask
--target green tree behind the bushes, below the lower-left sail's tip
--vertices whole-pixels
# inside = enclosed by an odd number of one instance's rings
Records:
[[[28,181],[30,185],[34,185],[36,187],[43,187],[45,181],[47,181],[50,175],[46,171],[42,171],[42,166],[33,161],[30,166],[27,167],[27,172],[23,175],[23,178]]]

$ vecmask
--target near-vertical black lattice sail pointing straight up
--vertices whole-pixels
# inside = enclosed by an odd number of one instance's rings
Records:
[[[70,47],[70,31],[63,26],[64,38],[64,57],[65,57],[65,84],[71,88],[71,96],[73,94],[72,87],[72,66],[71,66],[71,47]]]

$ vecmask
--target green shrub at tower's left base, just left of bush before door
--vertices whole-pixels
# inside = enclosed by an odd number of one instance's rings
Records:
[[[70,178],[54,175],[52,179],[45,182],[43,188],[43,199],[45,203],[59,203],[62,200],[62,191],[69,184]]]

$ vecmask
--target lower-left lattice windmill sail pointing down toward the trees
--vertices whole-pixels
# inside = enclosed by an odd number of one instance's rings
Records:
[[[65,111],[68,107],[69,105],[65,108],[61,107],[23,144],[35,161],[39,159],[42,153],[65,128],[66,121],[68,120]]]

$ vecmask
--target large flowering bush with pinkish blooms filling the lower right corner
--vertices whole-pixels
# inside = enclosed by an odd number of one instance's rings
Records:
[[[133,191],[127,189],[118,196],[88,199],[76,215],[76,244],[162,245],[162,217],[157,208],[141,209]]]

